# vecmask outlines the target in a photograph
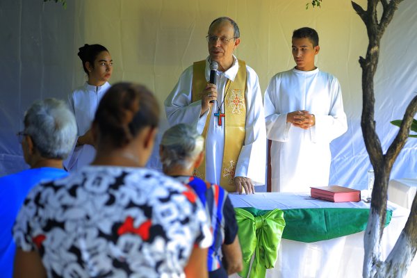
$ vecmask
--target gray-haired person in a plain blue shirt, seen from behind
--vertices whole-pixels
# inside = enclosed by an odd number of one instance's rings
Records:
[[[11,231],[26,195],[40,181],[67,176],[63,159],[76,140],[74,114],[64,101],[35,101],[24,115],[24,130],[17,136],[31,169],[0,178],[0,273],[7,278],[13,275],[16,249]]]

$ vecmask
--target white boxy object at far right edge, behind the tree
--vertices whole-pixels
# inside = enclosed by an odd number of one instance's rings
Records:
[[[388,199],[404,208],[411,209],[417,191],[417,179],[391,179],[388,185]]]

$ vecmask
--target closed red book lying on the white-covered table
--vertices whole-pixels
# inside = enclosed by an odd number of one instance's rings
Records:
[[[343,186],[320,186],[311,188],[311,197],[329,202],[359,202],[361,191]]]

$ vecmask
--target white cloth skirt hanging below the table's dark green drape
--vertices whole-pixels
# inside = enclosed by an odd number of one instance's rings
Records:
[[[361,202],[363,203],[363,202]],[[341,203],[338,203],[341,204]],[[369,204],[367,204],[369,206]],[[393,209],[391,223],[384,228],[381,240],[381,259],[393,249],[409,210],[389,202]],[[363,236],[365,231],[316,243],[301,243],[281,239],[275,267],[267,270],[267,278],[357,278],[362,277]],[[416,277],[417,259],[411,263],[406,278]]]

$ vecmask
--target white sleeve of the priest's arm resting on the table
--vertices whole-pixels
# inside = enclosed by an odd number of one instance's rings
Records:
[[[245,144],[240,150],[235,177],[248,177],[256,186],[265,184],[266,135],[258,76],[247,67]]]

